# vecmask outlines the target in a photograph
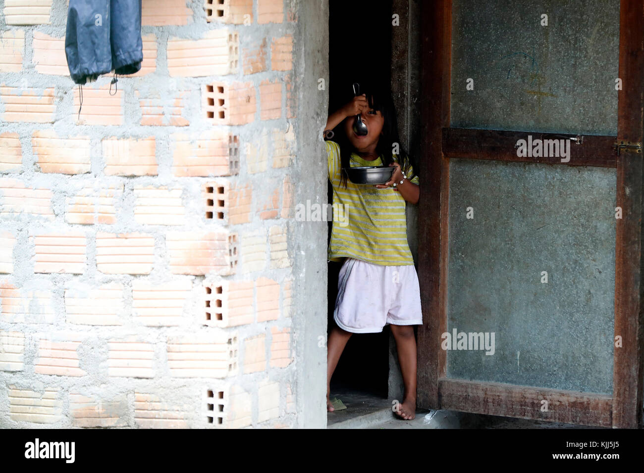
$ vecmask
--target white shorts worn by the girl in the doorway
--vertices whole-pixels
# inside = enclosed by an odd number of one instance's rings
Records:
[[[416,268],[346,258],[338,277],[333,319],[352,333],[381,332],[388,324],[422,324]]]

